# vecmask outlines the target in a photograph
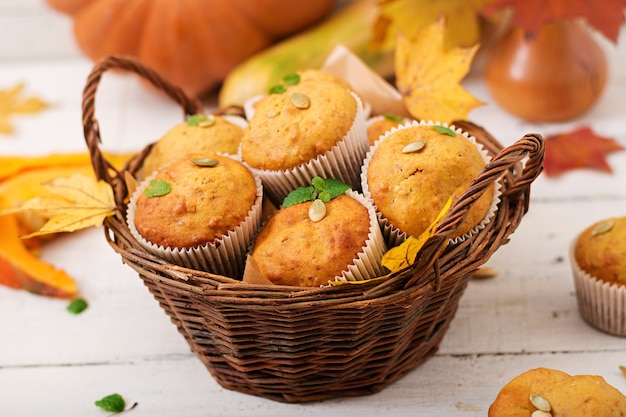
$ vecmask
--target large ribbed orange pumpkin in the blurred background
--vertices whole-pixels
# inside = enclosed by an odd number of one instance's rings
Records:
[[[336,0],[46,0],[74,19],[92,60],[132,55],[187,93],[219,85],[232,68],[326,17]]]

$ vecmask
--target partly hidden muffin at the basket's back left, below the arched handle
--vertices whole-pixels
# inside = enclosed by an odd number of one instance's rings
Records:
[[[237,116],[190,116],[154,144],[143,162],[144,176],[191,152],[236,155],[246,124]]]

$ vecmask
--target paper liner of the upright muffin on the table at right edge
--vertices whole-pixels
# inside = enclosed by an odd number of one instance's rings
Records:
[[[569,250],[570,265],[581,317],[603,332],[626,336],[626,286],[611,284],[592,277],[576,262],[575,239]]]

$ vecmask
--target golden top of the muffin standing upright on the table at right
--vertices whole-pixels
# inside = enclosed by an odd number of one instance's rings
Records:
[[[601,281],[626,284],[626,216],[592,224],[574,247],[578,266]]]

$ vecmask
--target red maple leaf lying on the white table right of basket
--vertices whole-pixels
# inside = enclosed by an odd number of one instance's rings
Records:
[[[589,127],[583,126],[546,138],[544,172],[549,177],[580,168],[611,173],[606,155],[621,150],[624,147],[615,140],[599,136]]]

